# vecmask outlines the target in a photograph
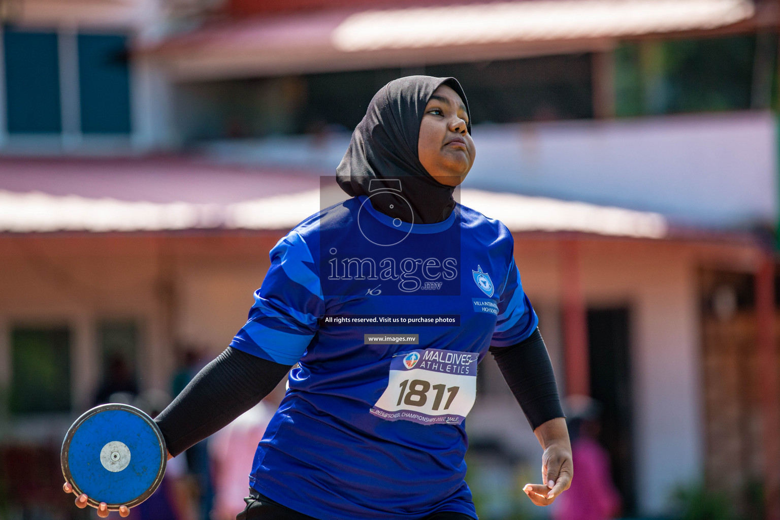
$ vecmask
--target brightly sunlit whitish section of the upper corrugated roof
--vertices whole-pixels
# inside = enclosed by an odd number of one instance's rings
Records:
[[[341,51],[626,37],[707,30],[753,16],[750,0],[537,0],[357,12],[332,33]]]

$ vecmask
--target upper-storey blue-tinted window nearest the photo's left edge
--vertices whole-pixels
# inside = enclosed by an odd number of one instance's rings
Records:
[[[6,28],[3,45],[9,133],[59,133],[57,35]]]

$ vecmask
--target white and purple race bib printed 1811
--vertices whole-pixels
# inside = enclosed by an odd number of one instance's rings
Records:
[[[390,362],[388,387],[371,413],[388,421],[460,424],[477,397],[474,352],[413,350]]]

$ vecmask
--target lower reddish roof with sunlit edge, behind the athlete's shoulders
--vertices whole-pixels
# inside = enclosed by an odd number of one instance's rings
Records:
[[[344,200],[319,172],[225,168],[175,159],[0,160],[0,232],[287,230]],[[664,238],[660,214],[463,189],[461,202],[512,232]]]

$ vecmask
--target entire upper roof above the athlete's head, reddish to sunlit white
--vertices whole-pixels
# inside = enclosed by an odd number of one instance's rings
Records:
[[[615,38],[713,30],[756,14],[750,0],[452,4],[223,21],[149,51],[183,80],[317,73],[599,51]]]

